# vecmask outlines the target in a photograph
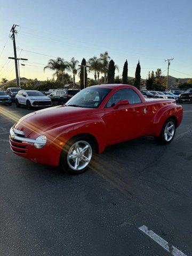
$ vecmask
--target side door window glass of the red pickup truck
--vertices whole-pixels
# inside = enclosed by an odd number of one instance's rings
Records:
[[[130,104],[140,103],[141,99],[132,89],[122,89],[113,94],[106,107],[113,107],[119,100],[129,100]]]

